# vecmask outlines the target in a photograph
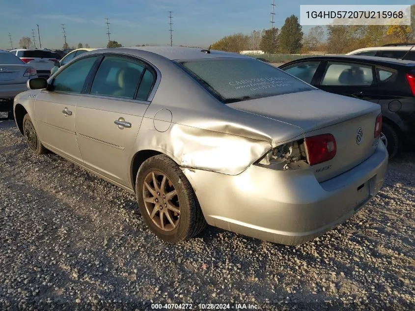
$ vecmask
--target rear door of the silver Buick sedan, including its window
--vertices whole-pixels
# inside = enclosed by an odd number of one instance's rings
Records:
[[[155,71],[137,59],[104,57],[90,94],[77,105],[76,131],[85,166],[131,186],[127,168],[155,78]]]

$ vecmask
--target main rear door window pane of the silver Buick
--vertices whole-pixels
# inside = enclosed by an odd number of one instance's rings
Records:
[[[129,58],[107,56],[91,86],[91,94],[134,99],[144,65]]]

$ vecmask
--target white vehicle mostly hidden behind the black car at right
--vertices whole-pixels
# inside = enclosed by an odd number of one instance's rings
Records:
[[[386,44],[381,47],[362,48],[346,55],[389,57],[397,59],[415,60],[414,44]]]

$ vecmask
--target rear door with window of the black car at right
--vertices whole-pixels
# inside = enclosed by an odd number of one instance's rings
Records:
[[[375,67],[348,61],[328,61],[315,85],[327,92],[379,102]]]

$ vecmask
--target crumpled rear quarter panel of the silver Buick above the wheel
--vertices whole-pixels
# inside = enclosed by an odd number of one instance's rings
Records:
[[[221,103],[171,61],[163,66],[136,152],[157,150],[182,167],[237,175],[277,145],[304,138],[300,127]],[[154,117],[162,109],[172,114],[165,132],[154,127]]]

